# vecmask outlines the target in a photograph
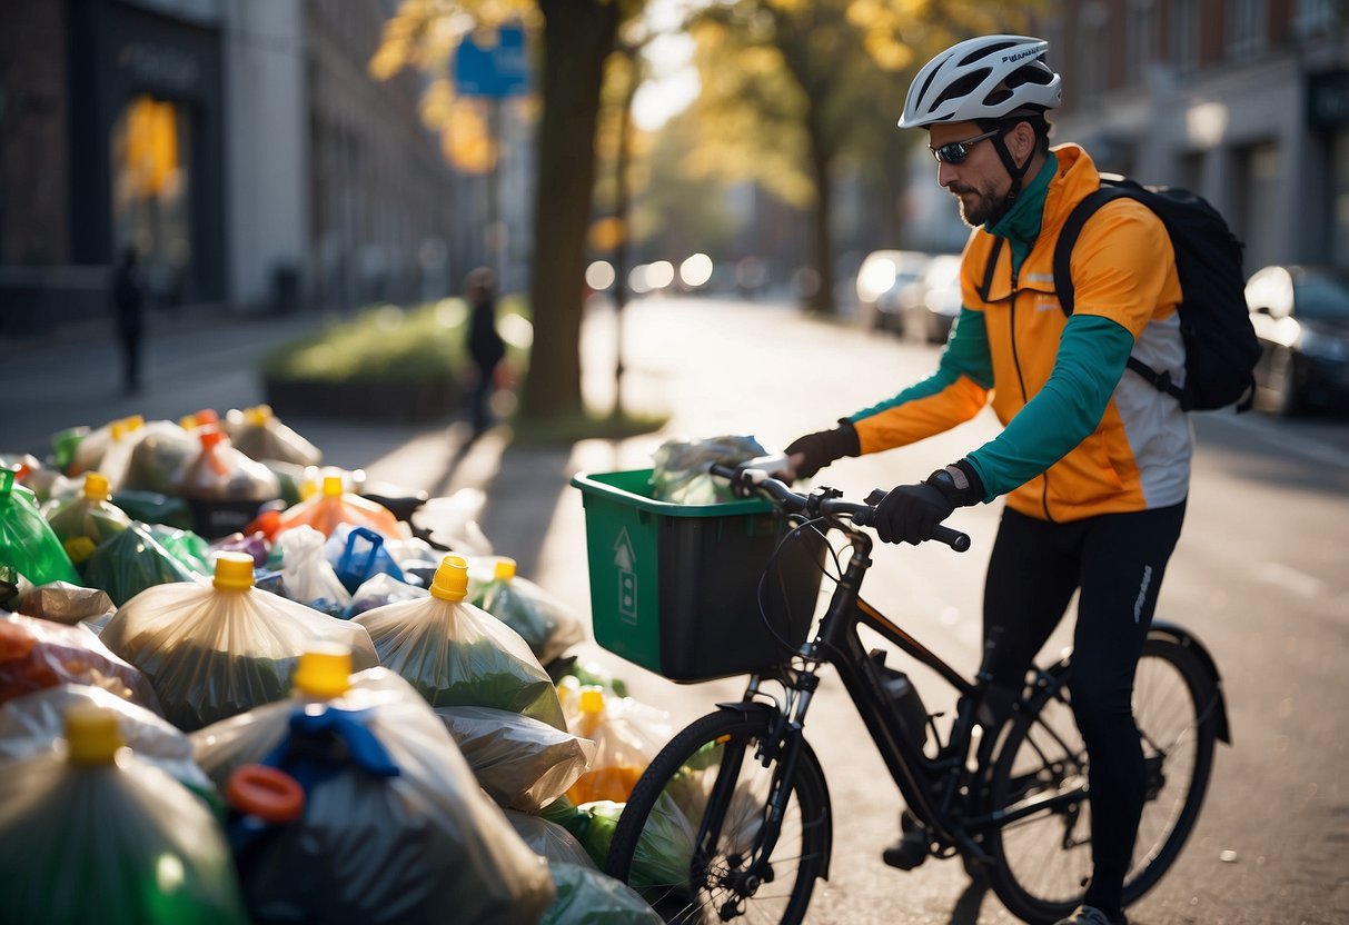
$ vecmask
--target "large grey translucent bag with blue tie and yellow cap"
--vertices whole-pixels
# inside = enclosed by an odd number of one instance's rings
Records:
[[[192,735],[223,789],[255,763],[304,787],[298,818],[236,841],[255,925],[538,920],[553,898],[545,862],[407,682],[352,674],[333,646],[306,653],[295,682],[286,701]]]

